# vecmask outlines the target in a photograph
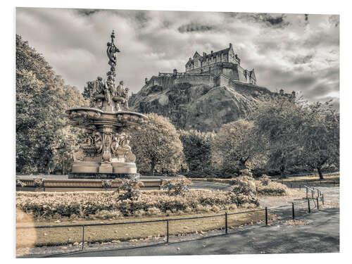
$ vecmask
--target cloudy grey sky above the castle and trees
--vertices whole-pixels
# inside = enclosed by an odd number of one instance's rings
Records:
[[[106,77],[106,42],[117,33],[117,80],[132,92],[144,78],[184,72],[195,51],[232,43],[257,84],[301,92],[339,106],[339,16],[306,14],[17,8],[16,32],[43,54],[67,84],[81,91]]]

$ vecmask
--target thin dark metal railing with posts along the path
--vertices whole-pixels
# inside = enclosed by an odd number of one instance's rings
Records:
[[[82,227],[82,247],[78,251],[83,251],[84,249],[84,227],[92,227],[92,226],[106,226],[106,225],[130,225],[130,224],[141,224],[141,223],[148,223],[148,222],[165,222],[166,223],[166,241],[165,243],[169,243],[169,225],[171,221],[179,221],[179,220],[194,220],[194,219],[201,219],[201,218],[216,218],[216,217],[225,217],[225,234],[228,234],[228,226],[227,226],[227,218],[229,215],[239,215],[242,213],[255,213],[259,211],[265,211],[265,226],[269,225],[269,211],[270,210],[275,210],[277,208],[285,208],[285,207],[291,207],[291,217],[294,220],[296,218],[295,215],[295,206],[298,204],[303,204],[307,203],[307,210],[308,213],[311,213],[311,206],[310,206],[310,201],[312,200],[315,203],[315,207],[317,210],[320,210],[319,206],[319,201],[324,205],[324,194],[319,189],[312,189],[308,186],[304,186],[306,188],[306,201],[301,201],[301,202],[293,202],[289,205],[283,205],[283,206],[272,206],[272,207],[265,207],[261,209],[256,209],[256,210],[246,210],[246,211],[241,211],[241,212],[234,212],[234,213],[221,213],[218,215],[202,215],[202,216],[195,216],[195,217],[190,217],[190,218],[167,218],[167,219],[158,219],[158,220],[143,220],[143,221],[130,221],[130,222],[109,222],[109,223],[92,223],[92,224],[76,224],[76,225],[39,225],[39,226],[34,226],[34,227],[16,227],[17,229],[40,229],[40,228],[63,228],[63,227]],[[308,196],[308,190],[311,192],[311,197]],[[314,197],[314,194],[317,194],[316,197]],[[314,207],[314,208],[315,208]],[[78,251],[70,251],[69,253],[75,253]],[[56,254],[53,254],[53,256]]]

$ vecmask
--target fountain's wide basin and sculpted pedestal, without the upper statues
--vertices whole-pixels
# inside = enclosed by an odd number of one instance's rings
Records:
[[[97,108],[71,108],[66,113],[73,125],[87,130],[80,151],[73,154],[69,178],[138,177],[127,132],[138,129],[147,120],[145,115]]]

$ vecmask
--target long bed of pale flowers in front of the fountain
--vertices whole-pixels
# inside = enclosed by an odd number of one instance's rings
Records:
[[[231,191],[189,191],[184,196],[169,196],[167,191],[141,191],[137,201],[120,200],[118,192],[27,192],[18,191],[16,207],[34,218],[87,218],[106,212],[109,218],[162,213],[218,211],[229,208],[255,208],[256,197]]]

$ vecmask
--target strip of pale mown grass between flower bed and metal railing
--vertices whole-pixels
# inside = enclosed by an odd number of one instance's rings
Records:
[[[227,213],[246,210],[245,208],[228,210]],[[194,213],[182,215],[159,215],[158,217],[131,217],[121,220],[75,220],[64,222],[18,222],[18,226],[33,225],[76,225],[89,224],[99,222],[129,222],[155,220],[163,218],[187,218],[201,215],[217,215],[225,213],[222,210],[218,213]],[[264,222],[265,211],[243,213],[239,215],[229,215],[227,218],[228,227],[239,226],[245,224],[253,224],[254,222]],[[192,220],[178,220],[169,222],[169,234],[187,234],[201,232],[207,230],[216,230],[225,228],[225,216],[213,218],[201,218]],[[127,225],[107,225],[84,227],[84,241],[104,242],[104,241],[126,241],[131,239],[151,239],[152,237],[166,236],[166,222],[149,222]],[[54,246],[67,244],[80,244],[82,241],[82,227],[56,227],[56,228],[40,228],[16,230],[16,247],[32,247],[32,246]]]

